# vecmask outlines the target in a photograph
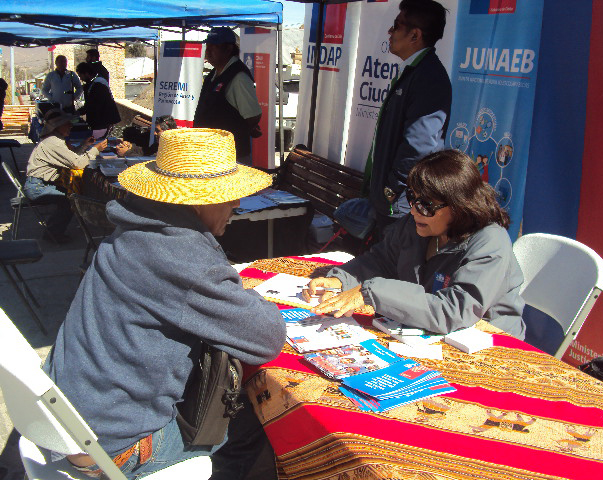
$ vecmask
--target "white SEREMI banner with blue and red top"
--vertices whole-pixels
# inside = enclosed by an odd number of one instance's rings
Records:
[[[162,43],[155,102],[155,118],[171,115],[179,127],[192,127],[203,83],[205,49],[201,42],[170,40]]]

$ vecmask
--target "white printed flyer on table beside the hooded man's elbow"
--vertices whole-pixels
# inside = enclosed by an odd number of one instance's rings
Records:
[[[287,342],[299,353],[358,345],[375,338],[351,317],[314,315],[287,323]]]

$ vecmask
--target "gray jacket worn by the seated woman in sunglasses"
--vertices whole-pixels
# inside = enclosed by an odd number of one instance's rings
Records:
[[[426,261],[428,241],[406,215],[370,252],[328,276],[339,278],[344,290],[362,284],[366,304],[408,326],[449,333],[483,318],[523,339],[523,274],[506,230],[488,225]]]

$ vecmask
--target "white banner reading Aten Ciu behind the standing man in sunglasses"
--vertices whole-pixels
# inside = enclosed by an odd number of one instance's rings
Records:
[[[457,0],[442,0],[440,3],[448,10],[448,14],[444,38],[437,42],[436,53],[450,72]],[[402,60],[390,53],[388,34],[400,13],[399,6],[400,0],[367,0],[362,3],[345,155],[345,164],[360,171],[364,170],[366,164],[381,104],[400,73]]]

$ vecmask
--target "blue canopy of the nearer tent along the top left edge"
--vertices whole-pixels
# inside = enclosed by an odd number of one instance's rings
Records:
[[[127,26],[267,25],[283,21],[283,6],[269,0],[2,0],[0,21],[52,25],[88,32]]]

